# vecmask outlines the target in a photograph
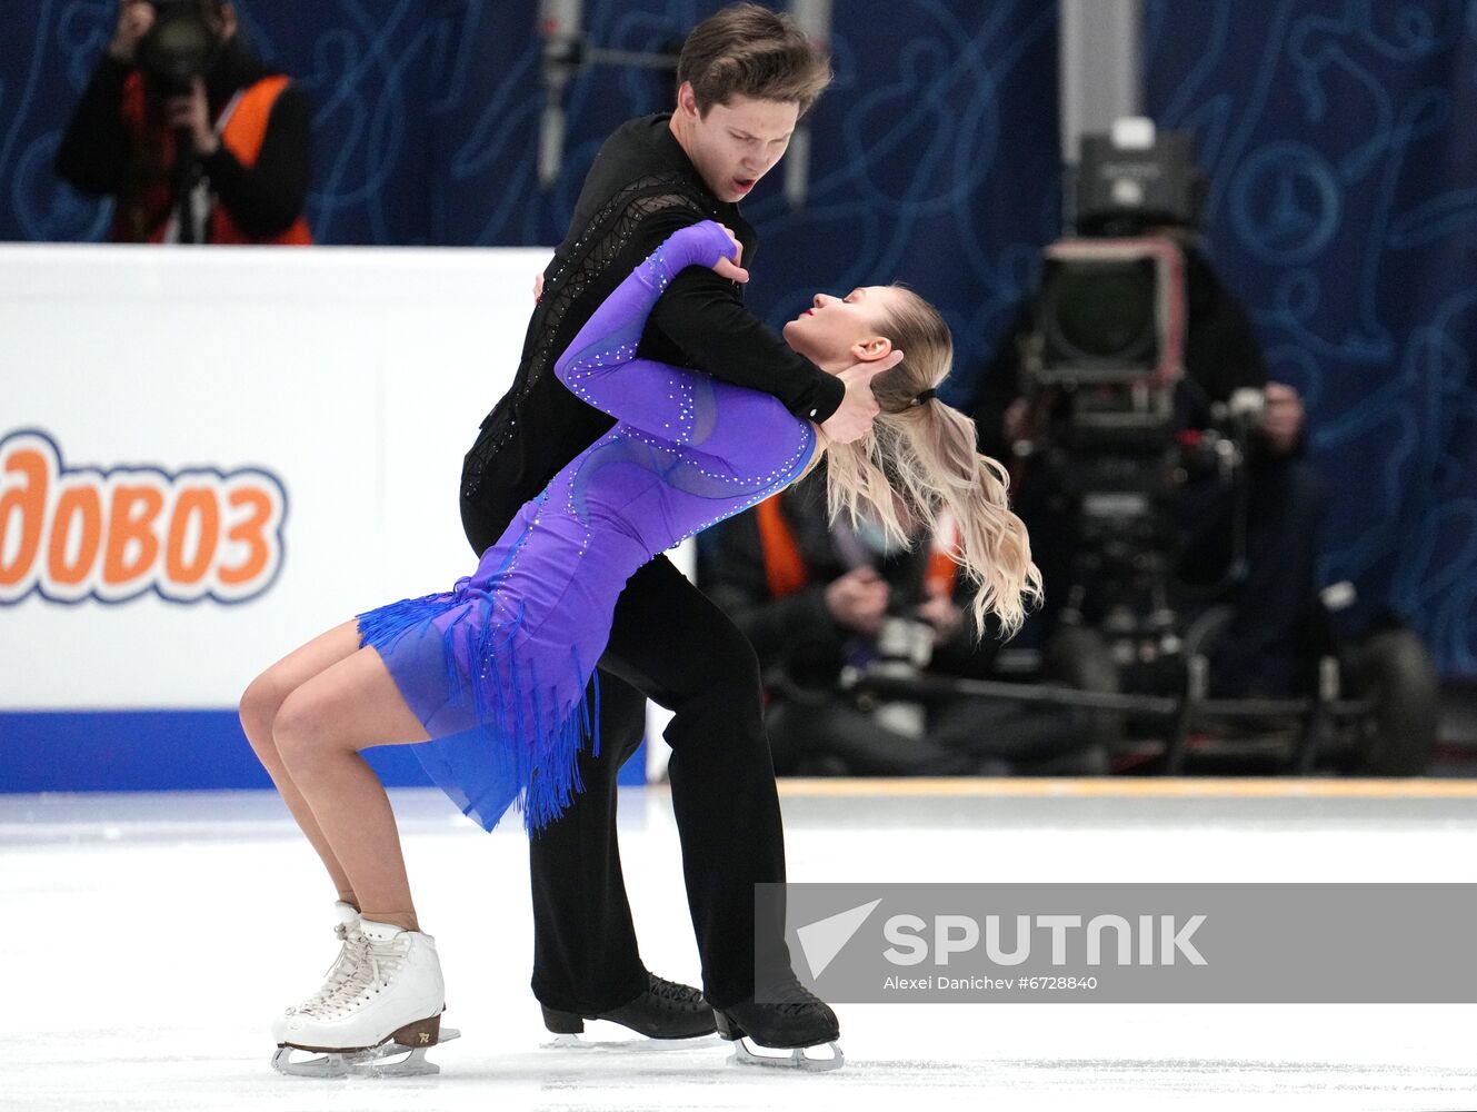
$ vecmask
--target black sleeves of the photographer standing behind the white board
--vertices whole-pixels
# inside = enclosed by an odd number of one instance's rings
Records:
[[[56,152],[56,173],[93,195],[120,197],[128,186],[140,151],[123,120],[123,90],[133,67],[103,55],[83,92]],[[205,80],[211,118],[236,92],[273,71],[233,40]],[[312,179],[312,106],[295,86],[272,105],[261,152],[242,166],[225,143],[201,160],[211,191],[247,235],[270,238],[292,226],[303,213]]]

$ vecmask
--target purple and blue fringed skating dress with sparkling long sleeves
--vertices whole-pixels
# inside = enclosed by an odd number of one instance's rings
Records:
[[[360,645],[433,738],[417,756],[486,830],[518,801],[536,831],[580,788],[580,745],[600,751],[585,689],[632,572],[790,484],[815,450],[814,426],[778,399],[635,358],[672,278],[733,253],[703,222],[641,263],[554,367],[619,423],[523,506],[470,578],[359,615]]]

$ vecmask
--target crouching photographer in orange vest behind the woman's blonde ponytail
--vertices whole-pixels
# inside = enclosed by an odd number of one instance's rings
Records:
[[[827,521],[824,467],[715,526],[699,586],[753,645],[781,775],[1006,775],[1090,770],[1065,714],[951,698],[861,705],[846,665],[897,676],[981,679],[997,642],[967,628],[951,538],[898,550],[848,519]],[[998,729],[993,728],[998,726]]]

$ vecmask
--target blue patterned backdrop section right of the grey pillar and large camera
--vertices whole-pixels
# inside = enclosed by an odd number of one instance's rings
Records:
[[[1211,253],[1307,398],[1325,577],[1477,673],[1477,4],[1151,0],[1146,65],[1211,174]]]

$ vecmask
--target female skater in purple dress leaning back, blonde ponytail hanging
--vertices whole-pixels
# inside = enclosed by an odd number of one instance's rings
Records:
[[[298,1072],[294,1048],[372,1057],[439,1040],[436,945],[360,750],[422,742],[417,756],[467,815],[490,830],[517,801],[536,833],[580,787],[575,759],[595,720],[585,688],[626,578],[826,448],[767,393],[635,358],[672,278],[736,256],[721,225],[684,228],[589,318],[555,374],[619,423],[523,507],[471,577],[329,630],[242,696],[247,736],[338,889],[344,939],[319,994],[278,1020],[278,1068]],[[873,432],[830,447],[833,512],[866,510],[904,543],[899,501],[925,526],[951,512],[976,623],[994,612],[1013,630],[1040,577],[1001,469],[975,452],[969,418],[933,399],[953,355],[938,313],[899,287],[818,294],[784,339],[826,370],[877,367]],[[598,751],[598,735],[589,744]]]

